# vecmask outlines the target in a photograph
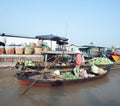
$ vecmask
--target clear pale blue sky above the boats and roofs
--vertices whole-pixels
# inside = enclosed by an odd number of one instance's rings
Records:
[[[120,47],[120,0],[0,0],[0,33]]]

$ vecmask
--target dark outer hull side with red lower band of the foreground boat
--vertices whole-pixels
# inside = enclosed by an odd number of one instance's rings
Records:
[[[30,79],[28,77],[21,77],[20,73],[17,73],[17,78],[20,84],[22,85],[33,85],[33,86],[66,86],[66,85],[73,85],[78,83],[84,83],[92,80],[100,79],[108,74],[108,71],[105,74],[95,76],[95,77],[89,77],[84,79],[65,79],[65,80],[55,80],[55,79],[44,79],[44,80],[36,80],[36,79]]]

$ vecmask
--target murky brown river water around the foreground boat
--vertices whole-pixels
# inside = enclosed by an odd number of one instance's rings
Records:
[[[0,69],[0,106],[120,106],[120,70],[99,80],[65,87],[19,85],[14,68]]]

